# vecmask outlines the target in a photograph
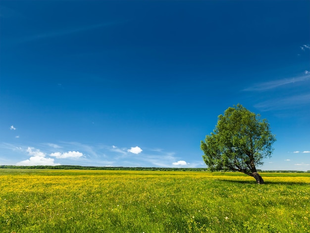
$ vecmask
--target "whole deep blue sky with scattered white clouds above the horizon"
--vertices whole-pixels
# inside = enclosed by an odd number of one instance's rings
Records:
[[[234,104],[310,170],[310,1],[0,2],[0,164],[206,167]]]

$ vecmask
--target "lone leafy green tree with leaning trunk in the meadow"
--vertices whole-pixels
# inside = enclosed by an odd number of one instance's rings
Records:
[[[201,141],[201,149],[209,170],[243,172],[263,184],[256,166],[271,157],[275,140],[266,119],[237,104],[218,116],[213,132]]]

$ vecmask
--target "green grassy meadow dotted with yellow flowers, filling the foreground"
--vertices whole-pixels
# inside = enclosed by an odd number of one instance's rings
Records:
[[[310,232],[310,174],[261,175],[0,169],[0,232]]]

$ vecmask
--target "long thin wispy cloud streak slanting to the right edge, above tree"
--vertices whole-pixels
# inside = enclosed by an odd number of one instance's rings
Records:
[[[278,88],[278,87],[285,86],[285,85],[292,84],[292,83],[305,82],[309,79],[310,79],[310,74],[309,74],[309,71],[306,70],[305,75],[303,76],[260,83],[254,87],[246,88],[243,91],[267,91],[267,90],[271,90],[271,89]]]

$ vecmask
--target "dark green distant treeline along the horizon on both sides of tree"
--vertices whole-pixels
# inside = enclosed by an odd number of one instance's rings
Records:
[[[0,168],[13,168],[13,169],[59,169],[59,170],[131,170],[131,171],[200,171],[207,172],[207,168],[158,168],[158,167],[84,167],[77,165],[58,165],[58,166],[14,166],[14,165],[0,165]],[[263,171],[258,172],[268,173],[310,173],[304,171]]]

